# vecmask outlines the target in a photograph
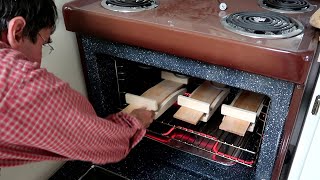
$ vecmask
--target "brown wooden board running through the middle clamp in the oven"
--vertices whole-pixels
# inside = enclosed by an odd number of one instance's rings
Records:
[[[213,86],[210,81],[205,81],[197,89],[195,89],[190,98],[211,104],[222,90]],[[205,113],[187,108],[180,107],[179,110],[173,115],[174,118],[188,122],[190,124],[197,124]]]

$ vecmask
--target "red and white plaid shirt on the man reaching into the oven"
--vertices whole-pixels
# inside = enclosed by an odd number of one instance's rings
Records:
[[[0,42],[0,167],[42,160],[116,162],[144,135],[128,114],[97,117],[66,82]]]

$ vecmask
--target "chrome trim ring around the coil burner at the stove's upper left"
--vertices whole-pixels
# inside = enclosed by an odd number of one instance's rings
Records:
[[[117,11],[117,12],[141,12],[145,10],[150,10],[158,7],[158,2],[156,0],[150,0],[151,6],[148,7],[121,7],[116,5],[108,5],[107,0],[101,1],[101,6],[105,9],[111,10],[111,11]]]

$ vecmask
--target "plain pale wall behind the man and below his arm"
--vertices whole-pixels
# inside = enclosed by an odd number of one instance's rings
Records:
[[[85,83],[74,33],[67,32],[61,14],[62,5],[70,0],[56,1],[59,20],[52,35],[54,51],[43,59],[42,66],[69,82],[70,86],[86,95]],[[0,180],[45,180],[63,165],[63,162],[40,162],[12,168],[2,168]]]

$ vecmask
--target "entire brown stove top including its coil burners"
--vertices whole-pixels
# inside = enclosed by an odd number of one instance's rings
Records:
[[[309,18],[320,2],[224,0],[224,11],[220,2],[77,0],[64,6],[64,18],[70,31],[297,83],[305,81],[318,42]],[[119,12],[119,5],[129,10]]]

